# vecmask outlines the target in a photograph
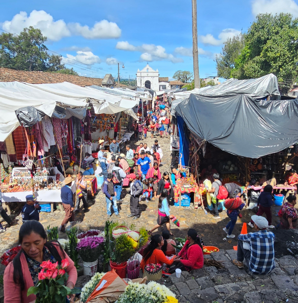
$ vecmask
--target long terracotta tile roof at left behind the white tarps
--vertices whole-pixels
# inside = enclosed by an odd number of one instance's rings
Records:
[[[49,72],[26,72],[10,68],[0,68],[0,82],[27,82],[32,84],[70,82],[79,86],[99,85],[103,79],[89,78],[75,75],[49,73]],[[124,85],[121,85],[124,86]]]

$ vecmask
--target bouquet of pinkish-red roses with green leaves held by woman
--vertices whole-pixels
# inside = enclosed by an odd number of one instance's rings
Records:
[[[68,278],[65,271],[68,265],[67,259],[62,260],[61,265],[43,261],[38,274],[39,282],[28,289],[27,295],[36,295],[36,303],[61,303],[66,301],[68,295],[79,293],[80,289],[70,289],[64,285]]]

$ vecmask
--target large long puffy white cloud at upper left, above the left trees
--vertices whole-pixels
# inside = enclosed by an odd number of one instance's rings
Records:
[[[42,34],[52,41],[59,41],[71,35],[83,36],[86,39],[112,39],[119,38],[121,35],[121,29],[115,22],[101,20],[89,28],[80,23],[66,24],[62,19],[54,21],[50,14],[36,10],[33,10],[29,16],[26,12],[20,12],[11,21],[4,21],[0,25],[5,31],[16,34],[19,34],[25,27],[33,26],[39,28]]]

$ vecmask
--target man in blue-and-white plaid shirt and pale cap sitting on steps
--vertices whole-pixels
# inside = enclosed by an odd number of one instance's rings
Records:
[[[275,268],[274,263],[274,234],[267,231],[268,221],[262,216],[253,215],[254,228],[250,232],[238,236],[237,259],[233,264],[243,268],[243,260],[254,274],[268,274]]]

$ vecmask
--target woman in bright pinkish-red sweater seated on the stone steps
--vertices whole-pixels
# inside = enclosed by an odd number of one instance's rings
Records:
[[[196,230],[188,229],[186,239],[183,248],[178,253],[178,258],[174,260],[174,264],[168,270],[170,274],[174,273],[177,268],[182,271],[191,271],[202,268],[204,265],[203,247]]]

